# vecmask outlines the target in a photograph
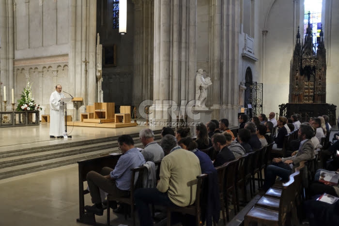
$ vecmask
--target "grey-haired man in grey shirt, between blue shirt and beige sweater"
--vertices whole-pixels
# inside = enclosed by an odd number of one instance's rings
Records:
[[[141,154],[144,156],[146,162],[156,162],[164,157],[164,151],[160,145],[154,141],[154,133],[151,129],[145,128],[140,130],[139,139],[145,146],[144,150],[141,151]]]

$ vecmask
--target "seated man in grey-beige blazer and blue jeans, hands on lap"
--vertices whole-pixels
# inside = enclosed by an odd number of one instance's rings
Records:
[[[314,134],[314,130],[311,126],[301,125],[298,130],[298,136],[301,140],[299,151],[288,158],[274,158],[273,165],[267,166],[265,182],[262,190],[266,192],[276,181],[277,176],[283,180],[288,180],[292,169],[289,166],[293,164],[293,167],[298,167],[301,161],[308,161],[314,158],[314,147],[310,140]]]

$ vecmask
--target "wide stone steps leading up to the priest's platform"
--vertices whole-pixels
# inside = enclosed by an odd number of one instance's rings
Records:
[[[161,140],[160,132],[154,131],[155,141]],[[135,141],[135,147],[143,148],[139,134],[131,136]],[[117,139],[118,136],[79,142],[63,141],[57,145],[0,151],[0,180],[119,152]]]

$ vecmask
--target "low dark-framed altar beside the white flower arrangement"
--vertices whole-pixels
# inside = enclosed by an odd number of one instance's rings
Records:
[[[39,125],[39,111],[0,111],[0,127]]]

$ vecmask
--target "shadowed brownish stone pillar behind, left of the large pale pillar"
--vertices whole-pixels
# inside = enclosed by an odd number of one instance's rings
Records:
[[[133,102],[153,100],[154,1],[134,0]]]

